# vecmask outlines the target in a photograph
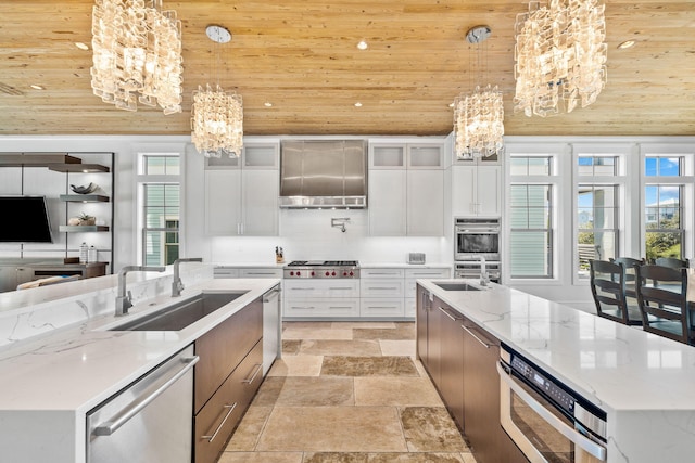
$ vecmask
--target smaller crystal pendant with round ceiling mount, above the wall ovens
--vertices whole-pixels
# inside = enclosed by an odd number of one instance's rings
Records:
[[[478,74],[482,60],[480,43],[491,35],[488,26],[476,26],[468,30],[466,40],[477,44]],[[472,66],[471,66],[472,68]],[[471,74],[472,69],[471,69]],[[471,159],[502,154],[504,150],[504,104],[497,86],[477,85],[470,94],[462,93],[454,100],[454,147],[456,157]]]

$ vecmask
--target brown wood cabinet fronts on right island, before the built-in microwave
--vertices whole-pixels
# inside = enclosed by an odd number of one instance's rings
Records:
[[[417,352],[479,463],[527,463],[500,424],[500,340],[417,288]]]

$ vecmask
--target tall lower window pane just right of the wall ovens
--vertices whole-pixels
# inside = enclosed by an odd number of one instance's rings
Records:
[[[553,275],[552,187],[513,184],[510,194],[509,269],[511,278]]]

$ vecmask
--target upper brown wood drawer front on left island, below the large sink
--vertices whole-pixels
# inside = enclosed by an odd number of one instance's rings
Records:
[[[229,373],[263,336],[263,301],[258,298],[195,342],[193,408],[198,413]]]

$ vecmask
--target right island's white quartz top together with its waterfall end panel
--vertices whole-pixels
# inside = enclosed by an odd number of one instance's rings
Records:
[[[692,346],[505,286],[418,284],[604,410],[608,462],[692,461]]]

